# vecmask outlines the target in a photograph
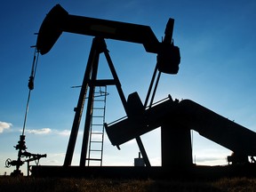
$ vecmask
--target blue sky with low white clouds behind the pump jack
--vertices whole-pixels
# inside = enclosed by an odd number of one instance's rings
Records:
[[[175,19],[173,38],[180,47],[180,71],[163,74],[156,100],[190,99],[221,116],[256,131],[256,2],[246,1],[5,1],[0,8],[0,175],[5,159],[17,158],[13,148],[22,129],[36,36],[47,12],[61,4],[70,14],[148,25],[161,40],[167,20]],[[108,39],[108,50],[127,97],[139,92],[145,100],[156,55],[141,44]],[[41,164],[63,164],[79,89],[92,36],[63,33],[52,50],[39,57],[32,91],[26,142],[28,151],[47,153]],[[105,59],[99,76],[108,78]],[[108,88],[106,121],[124,116],[115,87]],[[73,164],[79,163],[81,133]],[[228,137],[228,135],[227,135]],[[141,137],[153,165],[160,165],[160,129]],[[139,148],[134,140],[118,151],[105,140],[103,164],[133,165]],[[193,132],[196,164],[227,164],[230,151]],[[195,158],[196,156],[196,158]]]

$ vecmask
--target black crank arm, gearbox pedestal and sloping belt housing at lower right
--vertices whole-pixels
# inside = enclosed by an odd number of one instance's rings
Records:
[[[157,127],[162,128],[162,166],[191,165],[190,130],[235,152],[229,161],[246,163],[256,156],[256,133],[200,106],[192,100],[163,100],[148,108],[133,121],[129,116],[114,124],[106,124],[108,138],[114,146],[132,140]],[[167,159],[167,161],[166,161]],[[247,159],[247,160],[246,160]]]

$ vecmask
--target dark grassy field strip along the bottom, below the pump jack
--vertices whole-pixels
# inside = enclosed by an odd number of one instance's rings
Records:
[[[146,192],[146,191],[256,191],[256,179],[233,178],[208,181],[181,180],[108,180],[0,177],[0,192]]]

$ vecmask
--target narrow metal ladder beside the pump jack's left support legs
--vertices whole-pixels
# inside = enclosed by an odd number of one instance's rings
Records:
[[[89,136],[88,166],[102,166],[103,141],[104,141],[104,123],[107,99],[107,86],[99,86],[99,92],[94,92],[92,106],[92,121]]]

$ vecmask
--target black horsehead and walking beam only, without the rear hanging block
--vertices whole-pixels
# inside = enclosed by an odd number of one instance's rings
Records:
[[[158,52],[159,42],[148,26],[70,15],[60,4],[54,6],[44,19],[37,38],[37,50],[41,54],[49,52],[63,31],[143,44],[147,52]]]

